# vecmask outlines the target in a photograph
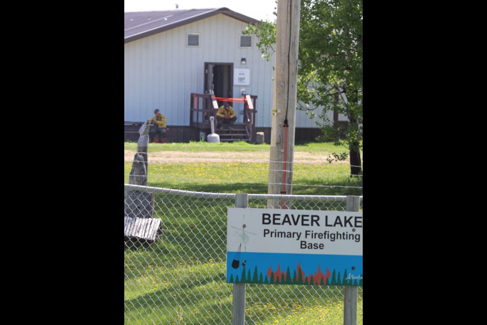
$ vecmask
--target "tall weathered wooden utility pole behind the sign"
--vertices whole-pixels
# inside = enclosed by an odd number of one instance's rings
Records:
[[[292,194],[293,191],[299,15],[300,0],[277,2],[269,194]],[[289,202],[282,200],[269,200],[267,207],[291,208]]]

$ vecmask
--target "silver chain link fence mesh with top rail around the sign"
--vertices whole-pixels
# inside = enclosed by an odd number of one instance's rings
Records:
[[[164,229],[155,242],[125,238],[125,323],[231,324],[226,217],[235,194],[124,187],[154,193],[154,217]],[[292,200],[292,209],[346,207],[345,197],[277,197]],[[267,208],[269,198],[249,194],[249,207]],[[342,324],[343,286],[247,284],[245,319],[246,324]],[[363,323],[363,287],[357,320]]]

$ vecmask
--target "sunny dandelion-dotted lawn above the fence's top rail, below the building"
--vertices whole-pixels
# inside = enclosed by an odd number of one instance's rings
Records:
[[[125,150],[135,152],[135,143],[125,143]],[[338,150],[339,149],[339,150]],[[211,192],[247,192],[267,193],[269,179],[268,152],[270,145],[252,145],[246,142],[189,144],[149,144],[149,161],[155,152],[188,152],[197,157],[199,152],[215,152],[216,156],[232,157],[232,153],[262,152],[267,153],[267,161],[242,162],[227,159],[223,162],[185,161],[149,164],[148,185],[166,188],[178,188]],[[295,156],[300,153],[329,154],[345,152],[342,147],[332,143],[308,143],[295,146]],[[316,161],[295,159],[293,175],[293,193],[309,195],[362,195],[360,178],[349,176],[347,164],[328,164],[326,160]],[[303,161],[303,162],[300,162]],[[132,166],[131,159],[124,162],[124,182]]]

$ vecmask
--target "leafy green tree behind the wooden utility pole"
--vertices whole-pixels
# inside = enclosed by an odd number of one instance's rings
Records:
[[[261,21],[244,34],[255,34],[257,46],[270,60],[275,44],[275,24]],[[301,0],[299,30],[298,109],[323,107],[318,122],[323,135],[349,154],[333,153],[335,159],[350,156],[351,176],[362,174],[363,151],[363,4],[362,0]],[[301,104],[303,103],[303,104]],[[328,112],[342,113],[349,123],[340,128]],[[340,134],[344,133],[342,139]],[[330,160],[331,162],[332,160]]]

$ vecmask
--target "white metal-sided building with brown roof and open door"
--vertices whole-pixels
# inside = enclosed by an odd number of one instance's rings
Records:
[[[213,88],[222,98],[257,95],[255,126],[270,129],[274,59],[242,35],[257,22],[227,8],[124,13],[124,120],[158,108],[168,125],[189,126],[191,93]],[[243,103],[233,107],[242,119]],[[316,128],[315,120],[298,110],[296,129]]]

